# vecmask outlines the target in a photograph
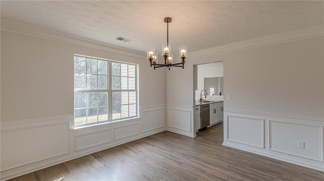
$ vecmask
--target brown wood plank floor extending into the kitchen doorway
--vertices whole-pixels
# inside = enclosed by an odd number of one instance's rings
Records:
[[[196,138],[162,132],[12,180],[324,180],[324,172],[222,142],[222,123]]]

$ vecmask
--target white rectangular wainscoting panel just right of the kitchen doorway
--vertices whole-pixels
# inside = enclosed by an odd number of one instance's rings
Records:
[[[264,148],[264,119],[227,116],[227,140]]]

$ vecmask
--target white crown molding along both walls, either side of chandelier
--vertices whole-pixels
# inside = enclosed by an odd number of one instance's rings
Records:
[[[108,43],[91,40],[88,38],[75,36],[67,33],[62,33],[42,27],[37,27],[33,25],[24,24],[17,21],[12,21],[8,19],[1,18],[1,30],[8,32],[15,32],[19,34],[29,35],[38,38],[44,38],[57,42],[64,42],[71,45],[82,46],[91,49],[97,49],[109,53],[125,55],[130,57],[137,57],[143,59],[146,56],[145,53],[111,45]],[[215,55],[218,53],[237,51],[241,49],[248,49],[260,46],[266,46],[271,44],[284,43],[289,41],[296,41],[300,39],[318,37],[324,35],[324,26],[312,26],[308,28],[293,30],[284,33],[278,33],[273,35],[268,35],[260,38],[255,38],[246,41],[240,41],[236,43],[231,43],[227,45],[207,48],[199,51],[194,51],[189,53],[190,58],[204,57],[209,55]]]

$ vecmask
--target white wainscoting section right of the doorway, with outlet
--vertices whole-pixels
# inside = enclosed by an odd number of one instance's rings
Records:
[[[324,171],[324,118],[228,109],[224,117],[224,146]]]

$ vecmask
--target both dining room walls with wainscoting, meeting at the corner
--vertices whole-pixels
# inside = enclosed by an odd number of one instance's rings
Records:
[[[224,101],[223,144],[324,170],[323,36],[278,44],[303,34],[289,32],[255,41],[261,46],[192,53],[185,69],[154,71],[145,54],[1,23],[1,179],[164,130],[194,137],[192,66],[218,61],[232,95]],[[73,53],[139,64],[140,117],[72,129]],[[296,149],[296,141],[305,149]]]

